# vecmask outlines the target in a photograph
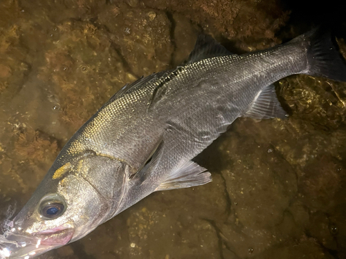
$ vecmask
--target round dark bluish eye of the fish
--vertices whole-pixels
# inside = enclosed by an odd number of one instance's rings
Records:
[[[47,220],[60,217],[65,212],[66,204],[57,194],[49,194],[42,198],[39,204],[39,213]]]

